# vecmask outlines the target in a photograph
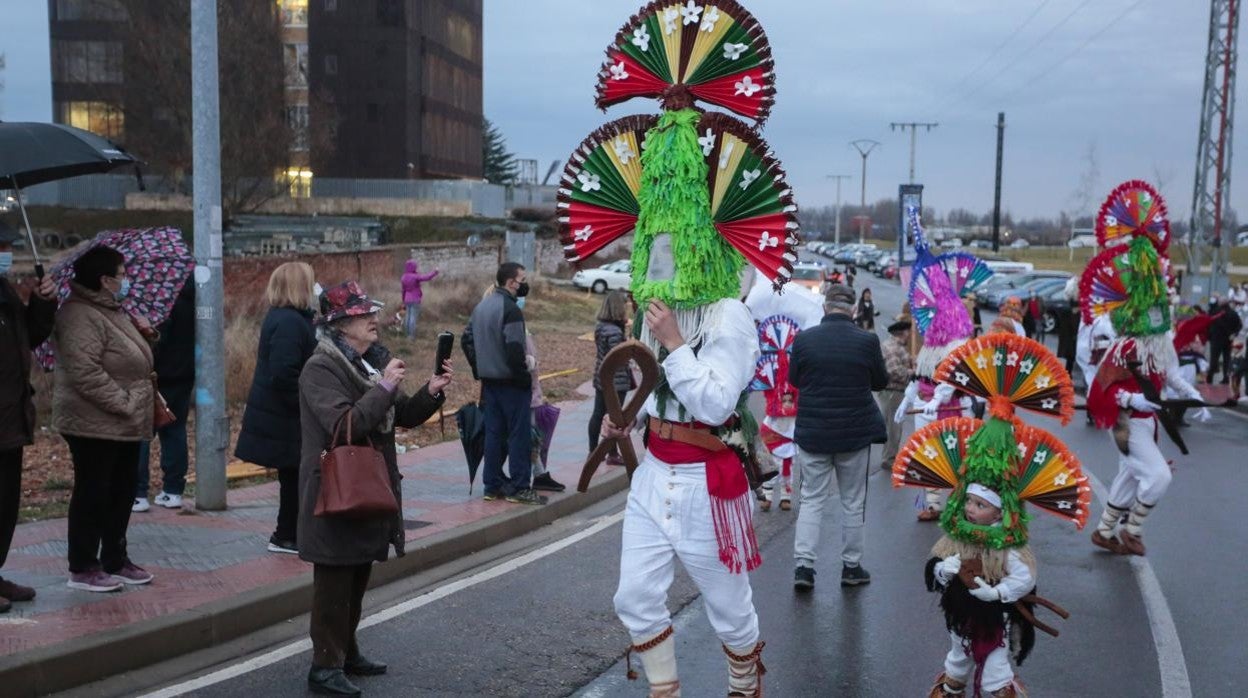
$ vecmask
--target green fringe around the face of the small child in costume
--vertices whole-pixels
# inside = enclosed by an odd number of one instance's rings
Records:
[[[1031,517],[1018,499],[1017,465],[1013,425],[990,417],[966,442],[958,486],[948,496],[948,504],[940,518],[941,528],[950,538],[998,551],[1027,544]],[[1000,523],[981,526],[966,519],[966,487],[971,483],[982,484],[1001,496]]]

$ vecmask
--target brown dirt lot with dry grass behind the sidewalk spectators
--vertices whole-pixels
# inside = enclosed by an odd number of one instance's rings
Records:
[[[468,321],[468,315],[480,300],[488,282],[468,282],[464,280],[434,280],[426,285],[426,300],[422,306],[421,325],[417,338],[408,340],[397,327],[387,327],[383,342],[397,356],[412,367],[428,366],[432,373],[437,333],[449,330],[459,332]],[[398,283],[387,288],[367,288],[378,298],[386,301],[383,313],[393,320],[394,310],[402,308],[398,302]],[[525,307],[529,331],[538,346],[539,372],[542,375],[573,371],[570,375],[548,378],[542,382],[547,400],[552,402],[578,398],[577,387],[590,380],[594,367],[594,345],[585,338],[593,332],[594,316],[598,312],[600,296],[589,296],[582,291],[565,287],[535,283]],[[231,307],[227,300],[226,307]],[[243,303],[240,303],[243,305]],[[237,307],[237,306],[235,306]],[[243,403],[251,386],[255,370],[256,342],[258,341],[261,316],[227,315],[226,348],[227,378],[226,392],[230,400],[230,423],[233,432],[231,443],[237,440],[242,421]],[[458,438],[456,433],[454,410],[477,400],[479,383],[472,380],[472,373],[463,361],[463,353],[453,353],[457,380],[447,390],[444,430],[438,422],[417,430],[401,430],[398,442],[403,446],[424,446],[443,440]],[[406,390],[416,390],[426,378],[419,371],[409,370],[413,378]],[[36,390],[36,406],[40,423],[50,421],[50,396],[52,376],[32,376]],[[191,471],[195,469],[195,415],[192,412],[188,430],[192,435]],[[152,443],[151,483],[152,493],[160,491],[160,443]],[[250,484],[255,479],[231,482],[231,486]],[[22,476],[22,521],[37,521],[65,516],[69,507],[70,489],[74,486],[74,468],[70,462],[65,441],[41,428],[35,446],[26,450],[25,474]],[[193,483],[187,488],[193,494]]]

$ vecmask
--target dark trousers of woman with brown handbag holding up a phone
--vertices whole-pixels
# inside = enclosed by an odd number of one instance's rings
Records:
[[[312,566],[312,666],[317,669],[341,669],[343,663],[359,656],[356,628],[368,588],[371,563]]]

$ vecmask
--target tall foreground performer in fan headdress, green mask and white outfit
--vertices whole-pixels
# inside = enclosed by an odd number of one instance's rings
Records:
[[[569,262],[634,232],[631,291],[645,313],[634,330],[660,365],[639,416],[646,453],[631,473],[615,592],[650,696],[680,696],[666,607],[678,558],[728,657],[729,694],[763,691],[748,576],[761,557],[743,467],[754,441],[743,398],[759,342],[739,298],[746,262],[778,287],[791,276],[796,206],[758,132],[694,102],[761,124],[774,79],[763,29],[735,1],[646,5],[607,50],[598,106],[644,96],[664,111],[592,134],[568,159],[558,192]],[[631,427],[607,420],[603,437]]]

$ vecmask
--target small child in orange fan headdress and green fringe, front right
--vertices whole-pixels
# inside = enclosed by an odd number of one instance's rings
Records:
[[[1021,407],[1070,420],[1070,376],[1038,342],[988,333],[955,350],[937,380],[988,401],[988,418],[953,417],[920,430],[894,462],[894,486],[951,488],[925,569],[941,593],[950,633],[945,671],[931,698],[1020,694],[1013,664],[1035,643],[1036,558],[1027,546],[1025,502],[1083,526],[1090,487],[1078,462],[1052,435],[1015,417]]]

